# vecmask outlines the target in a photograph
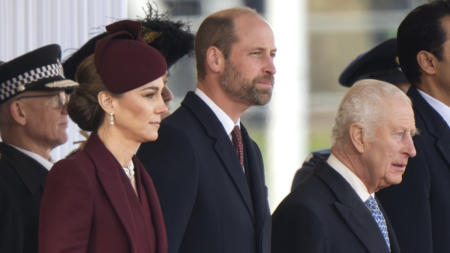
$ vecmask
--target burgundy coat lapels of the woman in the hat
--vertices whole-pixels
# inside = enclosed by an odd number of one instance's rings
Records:
[[[119,217],[119,220],[128,236],[132,252],[136,252],[135,238],[137,238],[138,235],[136,234],[137,231],[134,226],[131,207],[130,205],[125,204],[128,203],[128,196],[123,184],[121,183],[122,180],[119,174],[125,173],[122,166],[106,148],[95,132],[91,134],[83,150],[89,155],[94,163],[100,183],[105,189],[106,195],[114,207],[117,216]],[[133,156],[133,163],[135,165],[135,169],[140,171],[142,184],[146,190],[149,200],[148,202],[152,212],[152,221],[155,228],[156,242],[158,245],[157,252],[165,253],[167,252],[166,229],[164,226],[159,200],[156,195],[156,190],[154,189],[150,176],[148,176],[145,172],[144,167],[136,156]]]

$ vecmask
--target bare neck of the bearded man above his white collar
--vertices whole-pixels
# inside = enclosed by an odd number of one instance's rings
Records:
[[[205,93],[235,123],[251,106],[231,97],[222,89],[218,82],[198,81],[197,88]]]

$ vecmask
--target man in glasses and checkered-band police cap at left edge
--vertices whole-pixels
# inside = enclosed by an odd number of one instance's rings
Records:
[[[0,65],[0,252],[38,251],[39,207],[50,152],[67,141],[61,49],[48,45]]]

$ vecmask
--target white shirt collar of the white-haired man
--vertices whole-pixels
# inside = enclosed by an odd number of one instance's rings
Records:
[[[327,160],[328,164],[336,170],[341,176],[350,184],[356,194],[361,198],[363,202],[366,202],[370,196],[374,197],[374,194],[369,194],[366,185],[357,177],[347,166],[345,166],[336,156],[333,154]]]

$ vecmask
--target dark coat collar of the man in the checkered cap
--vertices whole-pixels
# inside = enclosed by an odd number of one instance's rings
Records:
[[[48,170],[42,164],[16,148],[1,142],[0,161],[8,160],[12,161],[14,169],[31,194],[35,194],[41,186],[45,185]]]

